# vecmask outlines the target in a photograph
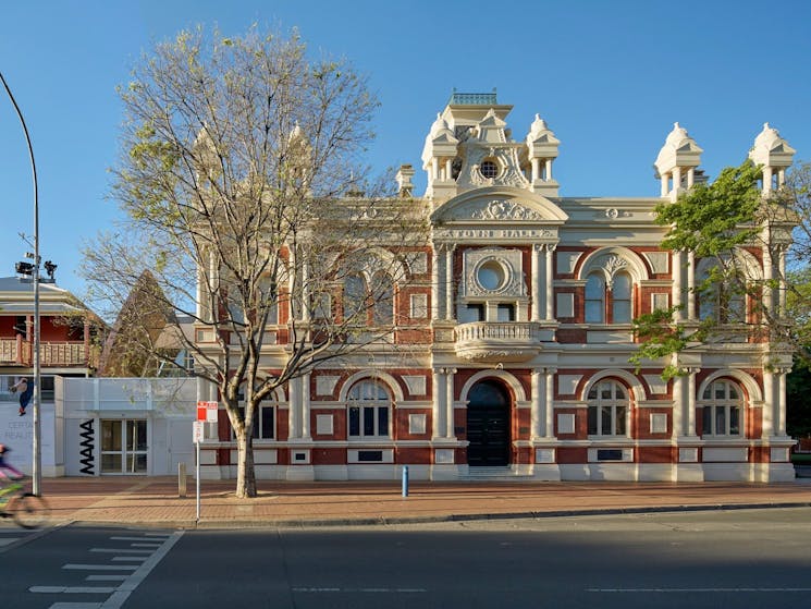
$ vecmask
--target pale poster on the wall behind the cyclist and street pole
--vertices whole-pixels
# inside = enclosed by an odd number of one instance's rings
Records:
[[[54,406],[42,404],[40,411],[40,453],[42,472],[56,468],[54,459]],[[34,444],[34,410],[27,409],[25,415],[20,416],[19,404],[0,402],[0,443],[5,444],[11,452],[5,460],[26,475],[33,470]]]

